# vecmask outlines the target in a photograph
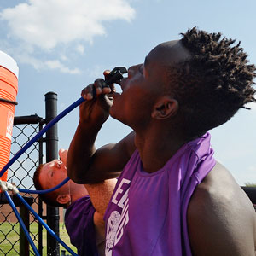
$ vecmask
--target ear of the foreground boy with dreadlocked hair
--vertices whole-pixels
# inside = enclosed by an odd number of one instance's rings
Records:
[[[154,119],[168,119],[177,113],[178,102],[170,96],[162,96],[154,104],[151,117]]]

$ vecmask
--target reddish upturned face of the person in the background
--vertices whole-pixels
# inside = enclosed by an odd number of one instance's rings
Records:
[[[61,160],[52,160],[42,167],[39,182],[43,189],[51,189],[61,183],[65,178],[67,178],[66,166]]]

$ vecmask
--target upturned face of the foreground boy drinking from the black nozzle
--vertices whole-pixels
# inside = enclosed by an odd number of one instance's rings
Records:
[[[180,41],[166,42],[152,49],[143,64],[128,69],[128,78],[121,81],[122,94],[113,96],[111,116],[135,131],[144,129],[151,120],[154,103],[166,94],[166,84],[170,84],[166,67],[189,56]]]

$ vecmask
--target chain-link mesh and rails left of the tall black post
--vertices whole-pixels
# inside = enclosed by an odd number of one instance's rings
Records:
[[[10,158],[12,158],[23,146],[42,129],[43,119],[38,115],[28,117],[16,117],[13,127],[13,139]],[[32,176],[35,168],[43,162],[43,140],[34,143],[26,150],[20,158],[10,166],[8,171],[8,182],[15,183],[21,189],[34,189]],[[36,212],[42,216],[42,202],[38,200],[38,195],[28,195],[20,193],[26,201],[32,205]],[[23,230],[20,230],[20,224],[17,221],[14,212],[8,202],[1,194],[0,203],[0,255],[34,255]],[[20,216],[23,218],[32,241],[38,247],[42,255],[42,227],[38,221],[29,213],[19,201],[13,197],[15,206],[20,209]],[[31,253],[31,254],[30,254]]]

